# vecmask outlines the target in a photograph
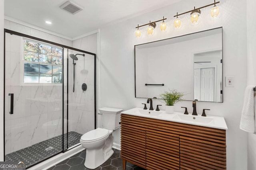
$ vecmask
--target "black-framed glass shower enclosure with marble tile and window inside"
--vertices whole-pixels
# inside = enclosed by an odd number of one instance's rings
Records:
[[[7,29],[4,46],[5,161],[28,168],[80,145],[96,127],[96,55]]]

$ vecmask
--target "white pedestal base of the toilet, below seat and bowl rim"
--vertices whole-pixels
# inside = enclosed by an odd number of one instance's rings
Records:
[[[102,165],[112,156],[112,154],[114,154],[112,146],[113,136],[112,134],[110,134],[104,146],[97,149],[86,149],[84,166],[89,169],[95,169],[98,166]]]

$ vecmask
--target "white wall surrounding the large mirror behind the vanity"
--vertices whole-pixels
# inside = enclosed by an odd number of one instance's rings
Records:
[[[244,69],[247,66],[247,48],[244,43],[246,42],[246,0],[222,0],[219,20],[210,19],[209,7],[202,10],[201,22],[196,26],[186,24],[189,21],[184,15],[182,16],[184,26],[181,29],[169,29],[164,33],[156,31],[150,37],[145,35],[139,39],[134,36],[138,23],[142,25],[149,20],[159,20],[163,16],[171,21],[177,11],[185,12],[194,6],[204,6],[208,4],[207,2],[205,0],[183,0],[172,6],[101,28],[100,102],[102,107],[122,109],[142,107],[141,103],[146,102],[146,99],[134,98],[134,45],[223,26],[223,75],[224,77],[233,75],[236,81],[235,86],[224,87],[224,103],[198,102],[197,111],[201,113],[202,109],[211,109],[208,111],[209,115],[219,115],[225,118],[228,125],[226,131],[227,169],[246,170],[246,133],[239,129],[247,77]],[[154,108],[156,104],[162,103],[153,100]],[[183,111],[181,106],[188,107],[188,111],[192,112],[192,102],[179,102],[175,110]],[[161,109],[165,109],[164,106]],[[114,135],[115,142],[120,143],[120,135]]]

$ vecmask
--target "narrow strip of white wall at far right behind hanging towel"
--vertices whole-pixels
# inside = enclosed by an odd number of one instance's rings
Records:
[[[256,1],[247,0],[248,85],[256,85]],[[256,134],[247,134],[248,170],[256,170]]]

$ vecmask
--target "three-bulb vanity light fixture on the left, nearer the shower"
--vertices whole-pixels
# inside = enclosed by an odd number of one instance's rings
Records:
[[[161,30],[161,31],[164,31],[164,30],[166,29],[166,23],[164,22],[164,20],[166,20],[166,19],[167,19],[167,18],[164,18],[164,17],[163,17],[162,20],[158,20],[158,21],[154,21],[154,22],[149,21],[149,23],[146,23],[146,24],[144,24],[144,25],[138,25],[138,27],[135,27],[135,28],[137,28],[136,31],[135,31],[135,36],[136,36],[136,37],[140,37],[141,31],[140,31],[139,27],[143,27],[143,26],[146,26],[146,25],[148,25],[148,28],[147,28],[148,35],[152,35],[154,29],[156,28],[156,22],[159,22],[159,21],[163,21],[163,22],[160,24],[160,30]]]

